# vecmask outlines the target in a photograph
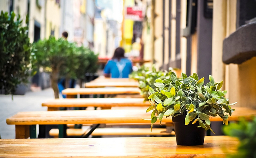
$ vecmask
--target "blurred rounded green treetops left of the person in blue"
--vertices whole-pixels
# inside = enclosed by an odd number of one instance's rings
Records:
[[[98,69],[98,55],[63,38],[39,40],[33,44],[32,56],[37,67],[42,66],[46,71],[57,69],[60,77],[82,79],[86,72],[95,73]]]

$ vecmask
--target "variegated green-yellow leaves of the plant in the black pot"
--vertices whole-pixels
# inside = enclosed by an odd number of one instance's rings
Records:
[[[228,99],[224,97],[227,91],[220,90],[223,81],[215,83],[213,77],[209,75],[210,82],[203,85],[204,77],[199,79],[196,73],[189,77],[182,73],[181,79],[178,79],[174,72],[169,72],[169,76],[171,78],[167,77],[162,82],[155,81],[154,85],[157,88],[155,92],[150,91],[151,95],[148,97],[154,106],[150,109],[158,118],[162,115],[166,117],[186,115],[186,125],[196,119],[193,124],[198,121],[199,127],[212,131],[209,116],[219,116],[223,123],[228,125],[226,113],[231,116],[234,109],[230,107],[233,104],[229,104]],[[161,122],[161,118],[159,120]]]

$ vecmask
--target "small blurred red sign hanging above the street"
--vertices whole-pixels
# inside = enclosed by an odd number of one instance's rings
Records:
[[[131,19],[133,21],[142,21],[142,8],[139,7],[127,7],[125,19]]]

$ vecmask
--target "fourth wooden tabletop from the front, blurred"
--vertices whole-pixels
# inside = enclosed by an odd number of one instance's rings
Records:
[[[62,94],[140,94],[140,89],[137,87],[67,88]]]

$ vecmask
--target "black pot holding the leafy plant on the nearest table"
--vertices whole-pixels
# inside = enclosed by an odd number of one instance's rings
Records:
[[[186,115],[172,117],[177,145],[203,145],[205,129],[197,128],[199,123],[185,125]]]

